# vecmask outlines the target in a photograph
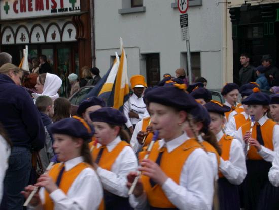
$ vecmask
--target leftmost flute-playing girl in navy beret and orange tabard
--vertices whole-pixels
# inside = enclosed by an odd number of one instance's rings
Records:
[[[93,127],[82,118],[66,118],[51,126],[53,148],[58,161],[48,174],[43,174],[35,186],[42,187],[30,202],[38,209],[98,209],[102,186],[93,170],[88,142]],[[27,198],[34,186],[22,192]]]

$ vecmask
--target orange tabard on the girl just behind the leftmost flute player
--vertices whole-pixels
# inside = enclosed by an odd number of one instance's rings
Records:
[[[121,141],[114,147],[114,149],[111,152],[109,152],[108,149],[105,148],[98,165],[103,169],[110,171],[115,159],[117,158],[117,156],[125,146],[129,146],[129,144],[125,141]],[[100,149],[101,147],[99,148],[96,147],[92,151],[92,156],[94,161],[96,160]]]

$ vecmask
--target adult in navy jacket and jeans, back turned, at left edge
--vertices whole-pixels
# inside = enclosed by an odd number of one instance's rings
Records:
[[[0,122],[13,143],[4,179],[2,209],[23,209],[23,195],[31,171],[31,151],[44,147],[45,131],[40,113],[20,84],[22,72],[12,64],[0,68]]]

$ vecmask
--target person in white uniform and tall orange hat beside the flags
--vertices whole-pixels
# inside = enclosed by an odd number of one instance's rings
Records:
[[[149,114],[146,109],[146,104],[143,100],[143,93],[145,88],[145,77],[142,75],[134,75],[130,79],[133,94],[129,100],[124,103],[124,115],[127,118],[125,124],[130,133],[133,133],[135,125],[143,118],[148,117]]]

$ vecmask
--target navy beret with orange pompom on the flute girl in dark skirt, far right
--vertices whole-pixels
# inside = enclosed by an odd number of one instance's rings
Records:
[[[242,104],[245,105],[269,105],[270,97],[260,92],[259,88],[254,88],[253,92],[250,96],[242,101]]]

